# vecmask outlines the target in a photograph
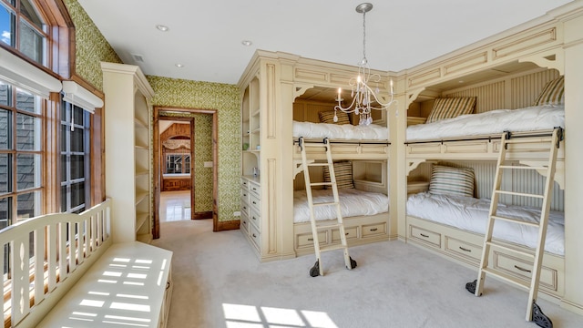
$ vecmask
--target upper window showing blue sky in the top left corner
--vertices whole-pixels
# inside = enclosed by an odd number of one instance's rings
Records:
[[[0,7],[0,41],[47,67],[47,26],[36,6],[31,0],[0,0]]]

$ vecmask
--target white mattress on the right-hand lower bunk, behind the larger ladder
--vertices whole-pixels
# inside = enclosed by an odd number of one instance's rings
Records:
[[[407,200],[407,215],[482,234],[486,233],[489,210],[490,200],[471,197],[421,192],[409,196]],[[540,209],[500,204],[497,214],[503,217],[537,222],[540,218]],[[537,233],[536,227],[496,220],[493,237],[535,248]],[[565,253],[565,216],[563,212],[551,211],[549,214],[545,251],[557,255]]]

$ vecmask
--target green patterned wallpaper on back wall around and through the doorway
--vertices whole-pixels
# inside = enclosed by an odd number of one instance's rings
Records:
[[[219,220],[239,220],[233,217],[233,212],[240,210],[240,94],[239,88],[235,85],[190,81],[185,79],[176,79],[169,77],[152,77],[148,76],[148,82],[154,89],[152,98],[153,106],[176,107],[176,108],[199,108],[199,109],[216,109],[219,120],[219,186],[218,208]],[[210,117],[210,115],[200,115],[200,117]],[[210,134],[212,122],[196,119],[195,134]],[[197,138],[196,142],[203,141],[205,138]],[[210,141],[210,138],[206,138]],[[197,168],[201,168],[204,161],[212,160],[210,153],[211,145],[202,145],[201,151],[206,154],[200,159],[195,159]],[[199,145],[197,145],[197,149]],[[206,149],[206,150],[204,150]],[[198,150],[195,150],[198,151]],[[200,161],[199,161],[200,160]],[[197,169],[197,171],[200,171]],[[207,170],[202,170],[206,174]],[[208,171],[210,174],[210,170]],[[205,177],[201,179],[210,179]],[[199,174],[196,177],[199,181]],[[209,184],[204,183],[202,186],[196,186],[197,204],[195,210],[210,210],[212,203],[206,203],[209,193],[212,196],[212,190]],[[197,184],[199,184],[197,182]],[[202,197],[201,206],[210,206],[210,208],[199,208],[199,199]]]

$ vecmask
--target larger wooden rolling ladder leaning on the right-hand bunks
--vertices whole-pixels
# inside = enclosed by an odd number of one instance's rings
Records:
[[[492,274],[497,278],[517,284],[528,290],[528,301],[527,301],[527,321],[533,321],[537,325],[544,328],[552,328],[553,323],[551,320],[540,310],[537,305],[537,292],[538,292],[538,282],[540,277],[540,268],[543,260],[543,252],[545,248],[545,239],[547,236],[547,225],[548,225],[548,212],[550,209],[550,196],[553,191],[553,183],[555,178],[555,170],[557,164],[557,149],[559,142],[563,138],[562,128],[555,128],[550,136],[529,136],[521,138],[510,138],[510,133],[505,132],[502,135],[502,143],[500,148],[500,154],[496,166],[496,178],[494,182],[494,188],[492,191],[492,201],[490,204],[490,210],[488,213],[487,229],[484,238],[484,246],[482,249],[482,259],[480,261],[480,267],[478,271],[477,280],[474,282],[468,282],[465,284],[465,289],[468,292],[474,293],[476,296],[482,295],[484,288],[484,281],[486,278],[486,273]],[[548,161],[547,165],[541,166],[513,166],[508,163],[509,159],[507,156],[511,156],[514,152],[525,151],[524,146],[534,143],[545,143],[548,145]],[[508,147],[510,146],[510,147]],[[523,148],[520,148],[523,146]],[[510,149],[508,149],[510,148]],[[515,149],[517,148],[517,149]],[[528,150],[527,150],[528,151]],[[542,195],[539,194],[529,194],[522,192],[513,192],[501,189],[503,172],[511,170],[520,169],[536,169],[539,171],[546,171],[546,181],[545,187]],[[513,195],[526,198],[535,198],[542,200],[540,220],[538,222],[529,222],[525,220],[517,220],[513,218],[506,218],[497,215],[498,200],[500,195]],[[494,222],[496,220],[506,220],[509,222],[514,222],[517,224],[533,226],[538,229],[537,245],[534,251],[524,251],[518,250],[517,248],[509,247],[503,245],[499,242],[492,240],[492,233],[494,231]],[[490,253],[490,248],[495,247],[503,249],[506,251],[511,251],[523,256],[533,261],[533,270],[530,282],[525,282],[519,280],[511,275],[503,272],[497,272],[488,267],[488,256]]]

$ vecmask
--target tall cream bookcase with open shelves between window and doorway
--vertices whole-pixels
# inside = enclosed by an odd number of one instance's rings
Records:
[[[154,91],[137,66],[101,63],[106,97],[106,195],[113,202],[113,241],[152,239],[149,99]]]

